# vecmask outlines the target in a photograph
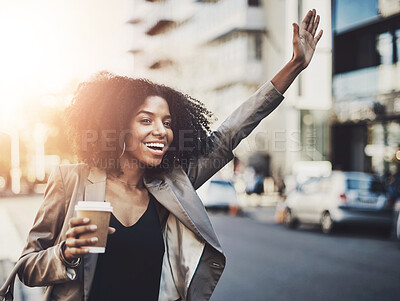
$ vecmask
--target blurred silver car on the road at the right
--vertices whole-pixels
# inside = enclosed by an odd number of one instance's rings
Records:
[[[376,224],[389,233],[393,206],[376,176],[334,171],[329,177],[308,180],[288,195],[284,223],[289,228],[319,224],[324,233],[331,233],[338,224]]]

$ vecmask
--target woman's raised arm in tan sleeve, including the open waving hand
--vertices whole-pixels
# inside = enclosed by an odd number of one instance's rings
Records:
[[[315,35],[320,17],[315,9],[304,17],[301,26],[293,24],[293,55],[281,71],[242,103],[210,136],[211,152],[193,158],[184,169],[195,189],[233,159],[233,150],[262,119],[283,100],[283,93],[310,63],[322,30]]]

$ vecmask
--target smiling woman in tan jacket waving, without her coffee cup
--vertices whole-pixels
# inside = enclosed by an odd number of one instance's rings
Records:
[[[283,100],[311,61],[318,24],[315,10],[293,24],[290,62],[208,137],[209,112],[173,89],[107,73],[81,85],[67,113],[83,163],[52,173],[20,279],[48,286],[45,300],[208,300],[225,256],[195,190]],[[114,208],[101,255],[79,239],[95,225],[73,217],[88,191]]]

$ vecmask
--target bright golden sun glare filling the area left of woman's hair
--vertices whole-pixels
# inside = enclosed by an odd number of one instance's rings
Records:
[[[133,4],[0,0],[0,192],[4,181],[27,191],[74,160],[62,110],[95,73],[133,74]]]

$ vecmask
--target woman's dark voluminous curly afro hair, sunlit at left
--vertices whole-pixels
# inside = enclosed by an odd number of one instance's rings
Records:
[[[148,167],[150,173],[170,170],[174,164],[189,162],[210,151],[207,137],[211,133],[212,113],[203,103],[147,79],[101,72],[78,86],[65,110],[67,133],[79,161],[107,172],[122,173],[121,134],[129,129],[133,112],[149,96],[160,96],[167,101],[174,134],[161,164]]]

